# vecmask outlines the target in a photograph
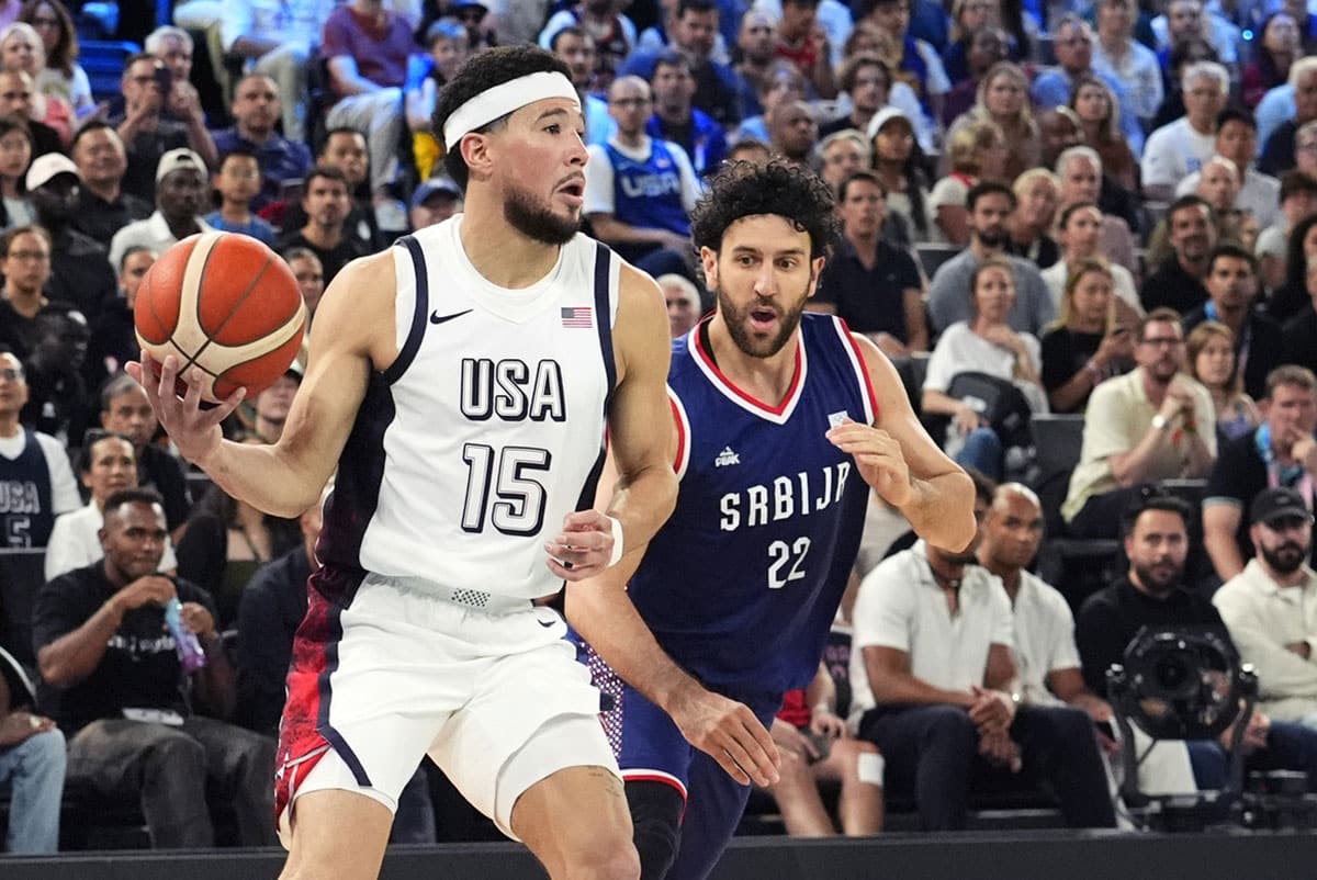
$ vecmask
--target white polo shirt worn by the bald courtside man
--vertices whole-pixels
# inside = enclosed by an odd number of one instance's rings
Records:
[[[1047,688],[1058,669],[1079,669],[1075,615],[1056,588],[1029,572],[1019,573],[1013,609],[1015,622],[1015,693],[1035,706],[1063,705]]]

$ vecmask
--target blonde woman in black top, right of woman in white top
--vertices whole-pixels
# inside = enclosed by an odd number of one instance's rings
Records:
[[[1043,387],[1052,412],[1083,412],[1101,382],[1134,368],[1135,324],[1121,321],[1105,261],[1071,263],[1060,317],[1043,333]]]

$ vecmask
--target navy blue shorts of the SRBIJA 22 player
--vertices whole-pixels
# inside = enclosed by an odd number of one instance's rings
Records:
[[[599,719],[622,779],[670,785],[686,804],[677,859],[666,880],[703,880],[736,831],[751,786],[734,780],[718,761],[686,742],[668,713],[622,681],[590,646],[582,644],[581,649],[595,686],[606,694],[605,705],[611,702]],[[782,702],[781,697],[726,696],[749,706],[765,729]]]

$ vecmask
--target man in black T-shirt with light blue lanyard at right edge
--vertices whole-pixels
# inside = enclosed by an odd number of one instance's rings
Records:
[[[1249,505],[1267,487],[1296,490],[1312,509],[1317,497],[1317,375],[1287,364],[1267,375],[1266,419],[1221,448],[1202,502],[1202,541],[1217,577],[1229,581],[1254,555]],[[1309,565],[1314,560],[1309,556]]]

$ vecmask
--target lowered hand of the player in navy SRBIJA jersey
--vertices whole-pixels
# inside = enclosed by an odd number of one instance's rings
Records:
[[[691,746],[718,761],[741,785],[778,781],[782,759],[764,725],[744,703],[701,689],[673,709],[672,719]]]

